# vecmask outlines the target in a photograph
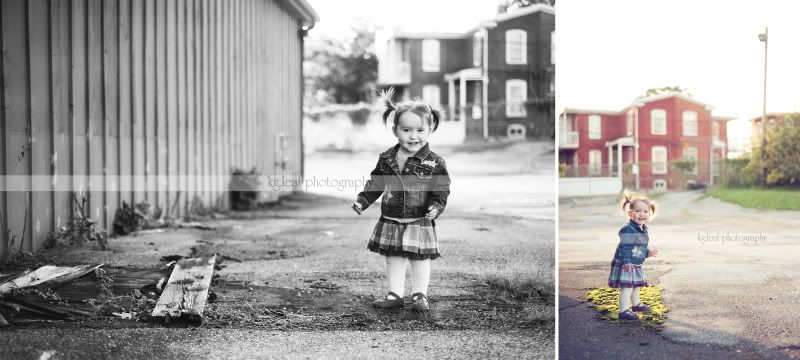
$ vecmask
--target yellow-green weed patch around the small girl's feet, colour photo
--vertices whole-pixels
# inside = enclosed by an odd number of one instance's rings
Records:
[[[667,320],[669,308],[661,302],[662,289],[655,286],[642,287],[639,293],[642,302],[649,305],[653,312],[639,314],[639,322],[648,325],[661,325]],[[619,320],[619,289],[602,287],[593,289],[586,294],[586,299],[592,303],[603,318]]]

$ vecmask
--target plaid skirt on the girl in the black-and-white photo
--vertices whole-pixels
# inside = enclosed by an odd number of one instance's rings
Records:
[[[381,216],[372,230],[367,249],[384,256],[402,256],[411,260],[441,257],[436,223],[428,219],[404,224]]]

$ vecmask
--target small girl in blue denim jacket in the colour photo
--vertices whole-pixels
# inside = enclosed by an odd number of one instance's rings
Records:
[[[658,255],[658,250],[647,249],[646,225],[656,215],[656,203],[646,195],[628,189],[623,192],[621,203],[630,221],[619,230],[619,245],[611,261],[608,286],[620,288],[619,318],[636,320],[639,319],[636,312],[649,313],[652,310],[639,299],[639,289],[647,286],[647,275],[642,269],[644,259]]]

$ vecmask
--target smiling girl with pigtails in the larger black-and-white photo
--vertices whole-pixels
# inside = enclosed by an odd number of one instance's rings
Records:
[[[397,145],[382,152],[353,210],[361,213],[381,197],[381,217],[372,231],[367,249],[386,257],[389,293],[372,304],[388,309],[405,305],[406,260],[411,262],[412,308],[430,309],[428,281],[430,262],[438,258],[436,223],[450,195],[450,176],[441,156],[428,146],[428,136],[439,126],[440,114],[430,105],[406,101],[393,104],[392,89],[382,94],[391,118]],[[393,116],[392,116],[393,115]]]

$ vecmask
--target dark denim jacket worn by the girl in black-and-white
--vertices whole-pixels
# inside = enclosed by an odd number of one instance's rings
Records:
[[[439,215],[447,205],[450,195],[450,175],[441,156],[430,150],[428,144],[406,160],[405,167],[397,164],[400,145],[382,152],[378,164],[370,173],[364,191],[356,202],[366,209],[381,197],[381,214],[409,219],[424,217],[428,207],[438,208]]]

